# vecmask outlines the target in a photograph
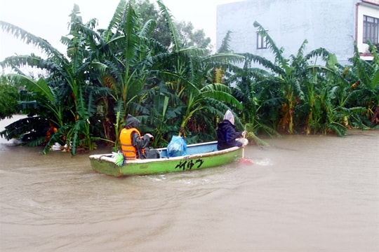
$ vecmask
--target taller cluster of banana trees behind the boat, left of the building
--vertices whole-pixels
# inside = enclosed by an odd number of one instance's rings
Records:
[[[173,22],[166,6],[160,1],[158,6],[157,25],[157,10],[147,1],[138,6],[135,1],[121,0],[107,29],[95,30],[95,19],[84,23],[75,4],[69,15],[69,33],[61,38],[67,45],[67,58],[48,41],[1,23],[2,29],[27,38],[27,43],[48,55],[47,59],[26,55],[1,62],[13,69],[29,65],[48,72],[48,78],[38,80],[19,71],[8,76],[26,87],[23,104],[34,101],[28,106],[29,113],[45,118],[56,129],[44,143],[44,153],[54,141],[67,144],[72,155],[78,148],[92,150],[100,139],[117,147],[126,113],[138,116],[142,127],[156,134],[156,146],[165,144],[174,132],[182,132],[181,127],[190,132],[204,125],[211,130],[211,138],[215,115],[224,112],[225,104],[240,106],[230,90],[211,83],[208,75],[218,59],[206,57],[204,34],[193,32],[190,24]],[[166,47],[154,38],[162,24],[169,34]],[[204,48],[189,48],[193,45]],[[220,109],[215,110],[215,104]],[[201,121],[204,116],[206,123]]]

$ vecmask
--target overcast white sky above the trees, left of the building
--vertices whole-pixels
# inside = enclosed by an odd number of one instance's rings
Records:
[[[175,20],[192,22],[195,29],[204,29],[213,45],[216,43],[216,6],[234,1],[241,0],[163,0]],[[1,0],[0,20],[45,38],[64,52],[65,46],[60,43],[60,37],[67,34],[69,14],[74,3],[79,5],[84,22],[98,18],[98,28],[106,28],[119,0]],[[32,45],[27,46],[0,30],[0,61],[8,56],[30,52],[40,55]]]

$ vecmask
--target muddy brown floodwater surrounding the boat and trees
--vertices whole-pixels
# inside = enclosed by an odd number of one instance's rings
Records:
[[[114,178],[0,139],[0,251],[379,251],[379,131],[265,140],[253,165]]]

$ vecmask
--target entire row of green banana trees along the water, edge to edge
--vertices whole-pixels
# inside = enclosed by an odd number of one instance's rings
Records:
[[[0,62],[15,71],[1,79],[0,118],[20,108],[29,114],[1,136],[42,145],[44,153],[56,142],[72,155],[99,144],[117,151],[124,117],[131,113],[141,121],[141,132],[154,134],[152,146],[166,146],[173,134],[191,144],[214,140],[215,125],[231,109],[237,127],[262,145],[257,137],[262,133],[343,136],[347,127],[368,127],[378,110],[379,58],[373,45],[373,62],[362,61],[356,48],[351,66],[340,66],[324,48],[305,54],[307,40],[295,55],[284,57],[283,48],[255,22],[273,62],[234,54],[231,32],[210,55],[203,31],[176,23],[164,3],[157,4],[159,10],[147,0],[121,0],[106,29],[97,29],[94,18],[83,22],[74,5],[69,32],[61,38],[67,57],[48,41],[0,21],[1,29],[48,55]],[[43,69],[46,76],[28,76],[20,66]]]

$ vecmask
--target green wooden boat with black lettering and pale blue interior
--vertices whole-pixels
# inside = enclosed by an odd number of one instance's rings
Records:
[[[217,167],[242,158],[243,148],[232,147],[217,150],[217,141],[187,145],[187,155],[168,158],[166,148],[157,148],[161,158],[126,160],[121,167],[114,162],[114,154],[90,155],[91,168],[95,172],[112,176],[131,176],[183,172]]]

